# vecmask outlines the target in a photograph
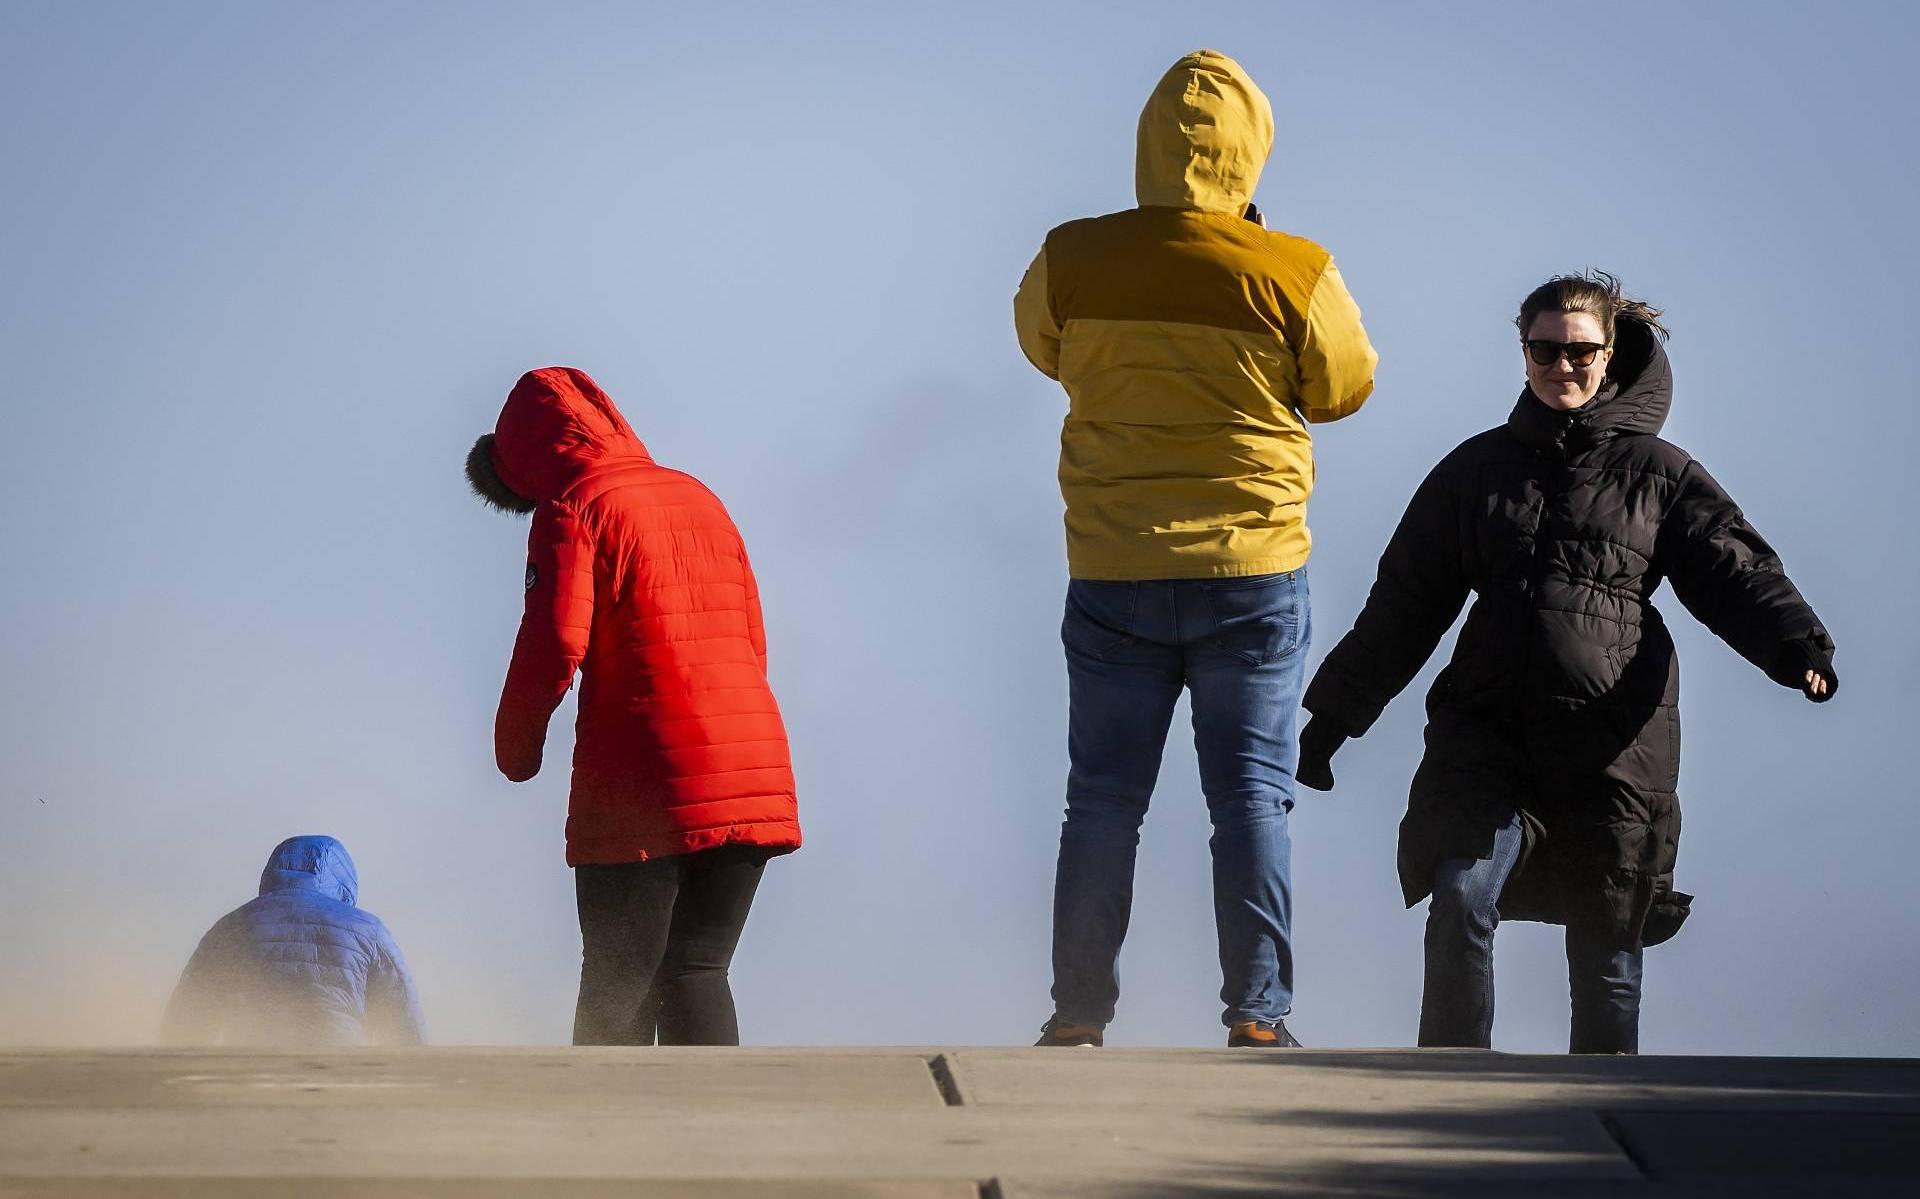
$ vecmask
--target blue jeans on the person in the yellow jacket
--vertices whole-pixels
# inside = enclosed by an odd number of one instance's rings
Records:
[[[1054,874],[1054,1013],[1114,1018],[1140,820],[1181,688],[1213,820],[1223,1022],[1294,1001],[1294,765],[1309,636],[1306,571],[1068,586],[1068,817]]]

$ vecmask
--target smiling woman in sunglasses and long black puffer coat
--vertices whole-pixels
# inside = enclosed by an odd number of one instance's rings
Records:
[[[1772,548],[1684,450],[1659,311],[1594,273],[1536,288],[1517,321],[1526,388],[1448,453],[1400,519],[1367,605],[1308,688],[1298,780],[1425,665],[1427,755],[1400,824],[1407,907],[1432,895],[1421,1045],[1486,1047],[1494,926],[1567,926],[1572,1053],[1636,1053],[1642,945],[1692,895],[1680,842],[1680,663],[1663,580],[1782,686],[1834,696],[1834,642]]]

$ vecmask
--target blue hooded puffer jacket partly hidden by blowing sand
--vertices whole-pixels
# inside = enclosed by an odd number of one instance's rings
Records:
[[[165,1040],[190,1045],[419,1045],[413,976],[328,836],[280,842],[259,899],[219,918],[167,1003]]]

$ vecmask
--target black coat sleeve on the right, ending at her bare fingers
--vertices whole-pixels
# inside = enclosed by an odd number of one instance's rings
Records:
[[[1749,663],[1774,673],[1786,642],[1807,640],[1832,653],[1834,640],[1780,555],[1734,498],[1690,461],[1661,521],[1655,563],[1693,619]]]

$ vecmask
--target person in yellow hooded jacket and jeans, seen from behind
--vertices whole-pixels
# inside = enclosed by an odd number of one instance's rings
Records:
[[[1020,346],[1068,392],[1068,813],[1054,1015],[1100,1045],[1173,705],[1192,694],[1213,822],[1229,1045],[1296,1045],[1290,838],[1309,638],[1308,425],[1352,415],[1379,361],[1332,257],[1252,204],[1273,108],[1231,58],[1181,58],[1140,111],[1139,208],[1046,234]]]

